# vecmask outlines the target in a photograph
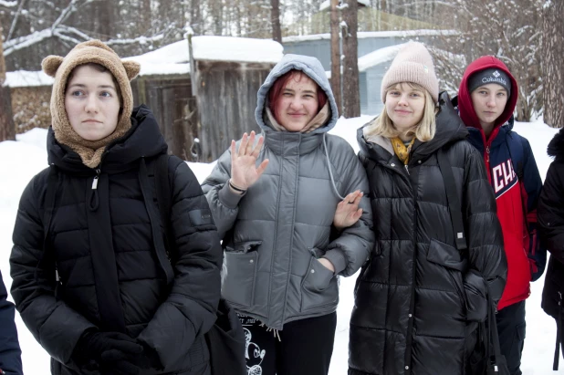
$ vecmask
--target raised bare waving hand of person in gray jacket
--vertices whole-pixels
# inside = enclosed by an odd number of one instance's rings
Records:
[[[256,167],[256,158],[260,152],[264,138],[258,138],[255,144],[256,134],[251,131],[250,136],[243,134],[239,149],[235,150],[235,141],[231,141],[231,186],[237,192],[245,192],[265,172],[268,159]]]

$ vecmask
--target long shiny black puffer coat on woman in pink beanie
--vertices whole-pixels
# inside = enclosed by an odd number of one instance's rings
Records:
[[[501,297],[507,262],[484,161],[465,141],[465,125],[446,94],[440,109],[433,140],[415,141],[407,168],[390,140],[369,142],[359,130],[376,245],[355,287],[351,375],[465,374],[477,326],[467,319],[475,313],[471,301],[486,303],[483,280]],[[436,156],[441,148],[462,204],[468,244],[462,254]],[[476,275],[482,290],[470,286]]]

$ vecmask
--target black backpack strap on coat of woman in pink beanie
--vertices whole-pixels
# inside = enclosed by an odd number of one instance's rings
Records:
[[[468,248],[468,245],[466,245],[465,225],[462,219],[462,204],[458,199],[458,193],[456,193],[453,168],[443,148],[439,149],[437,152],[437,159],[439,161],[439,169],[441,170],[441,174],[443,174],[444,190],[446,191],[448,211],[451,214],[456,248],[459,251],[463,251]]]

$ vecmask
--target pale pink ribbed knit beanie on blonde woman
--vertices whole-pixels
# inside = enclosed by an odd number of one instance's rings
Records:
[[[386,89],[400,82],[412,82],[429,91],[439,101],[439,81],[434,74],[433,58],[422,43],[408,42],[400,49],[381,81],[381,101],[386,102]]]

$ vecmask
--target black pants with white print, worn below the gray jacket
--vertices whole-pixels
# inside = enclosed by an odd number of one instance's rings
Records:
[[[255,318],[239,318],[245,331],[248,375],[329,373],[337,313],[296,320],[278,332],[261,327]]]

